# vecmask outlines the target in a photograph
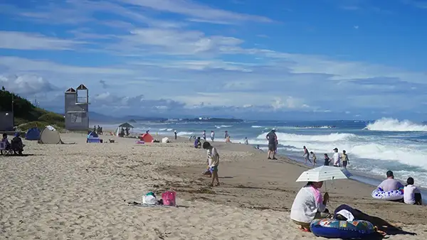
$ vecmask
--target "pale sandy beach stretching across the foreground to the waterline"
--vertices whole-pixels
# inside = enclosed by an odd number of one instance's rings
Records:
[[[1,156],[1,239],[322,239],[290,220],[303,185],[295,180],[306,167],[287,158],[214,143],[223,184],[211,188],[201,175],[206,152],[185,138],[145,145],[112,136],[101,138],[115,143],[85,143],[81,133],[61,138],[76,144],[24,141],[33,155]],[[175,190],[180,207],[127,204],[151,190]],[[327,190],[331,211],[349,204],[407,231],[389,239],[427,239],[426,207],[373,200],[372,187],[354,180],[327,182]]]

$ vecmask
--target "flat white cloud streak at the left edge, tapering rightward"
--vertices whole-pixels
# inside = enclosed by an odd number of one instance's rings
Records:
[[[0,31],[0,48],[19,50],[70,50],[83,42],[51,38],[39,33]]]

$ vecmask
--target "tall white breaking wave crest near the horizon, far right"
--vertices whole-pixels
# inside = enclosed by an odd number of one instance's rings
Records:
[[[427,125],[415,124],[408,120],[382,118],[368,124],[365,129],[370,131],[427,131]]]

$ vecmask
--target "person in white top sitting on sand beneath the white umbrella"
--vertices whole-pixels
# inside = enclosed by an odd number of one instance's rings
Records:
[[[326,209],[329,201],[327,192],[322,197],[320,189],[323,182],[307,182],[297,193],[290,209],[290,219],[299,225],[302,231],[310,231],[310,222],[313,219],[330,218]]]

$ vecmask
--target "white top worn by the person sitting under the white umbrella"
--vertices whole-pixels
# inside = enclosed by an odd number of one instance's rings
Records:
[[[302,187],[292,203],[290,219],[310,223],[315,219],[316,212],[325,212],[325,209],[319,190],[314,187]]]

